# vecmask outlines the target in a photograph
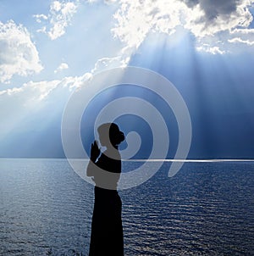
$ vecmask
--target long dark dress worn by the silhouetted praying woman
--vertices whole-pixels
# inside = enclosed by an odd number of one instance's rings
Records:
[[[97,166],[103,170],[121,172],[121,160],[110,159],[105,154],[97,160]],[[99,186],[94,175],[95,202],[91,222],[91,242],[89,256],[124,255],[124,235],[121,219],[122,202],[116,189]],[[117,187],[117,181],[115,188]]]

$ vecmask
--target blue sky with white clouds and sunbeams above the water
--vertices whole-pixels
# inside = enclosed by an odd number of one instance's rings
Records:
[[[253,0],[0,1],[0,157],[64,157],[71,93],[132,65],[181,93],[190,159],[254,159],[253,14]]]

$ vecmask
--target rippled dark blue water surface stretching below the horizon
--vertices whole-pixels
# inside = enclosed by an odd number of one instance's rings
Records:
[[[119,192],[124,255],[254,255],[254,163],[169,166]],[[1,255],[87,255],[92,207],[66,160],[0,159]]]

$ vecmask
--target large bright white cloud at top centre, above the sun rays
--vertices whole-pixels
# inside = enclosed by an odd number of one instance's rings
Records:
[[[116,25],[113,35],[128,47],[139,47],[150,31],[174,33],[180,25],[180,13],[186,8],[179,1],[121,1],[113,15]]]

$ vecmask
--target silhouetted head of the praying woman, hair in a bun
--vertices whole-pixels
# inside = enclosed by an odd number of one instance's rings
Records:
[[[98,127],[98,133],[102,146],[117,147],[124,141],[124,132],[119,130],[119,126],[114,123],[106,123]]]

